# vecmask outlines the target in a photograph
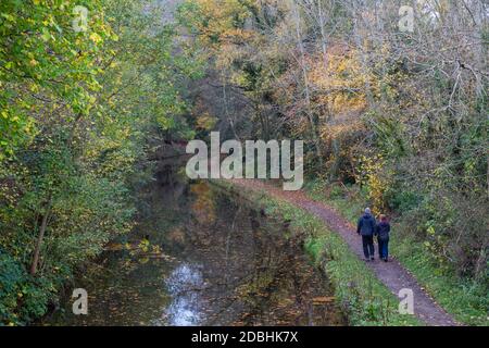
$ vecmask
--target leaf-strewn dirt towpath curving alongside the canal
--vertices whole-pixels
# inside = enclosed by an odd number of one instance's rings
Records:
[[[314,201],[306,197],[303,191],[284,191],[281,187],[275,187],[260,181],[234,179],[234,184],[246,189],[254,191],[265,191],[267,195],[285,199],[306,211],[313,213],[334,232],[338,233],[350,249],[362,260],[362,241],[356,234],[356,228],[342,217],[335,209],[325,203]],[[366,262],[375,275],[383,282],[396,296],[401,289],[412,289],[414,294],[414,313],[427,325],[432,326],[454,326],[457,323],[423,289],[396,259],[386,263],[378,259]]]

